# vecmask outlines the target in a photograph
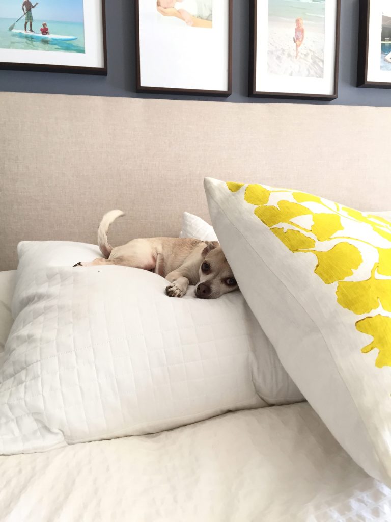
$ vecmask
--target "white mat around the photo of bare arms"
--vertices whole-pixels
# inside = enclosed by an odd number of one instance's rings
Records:
[[[229,0],[213,1],[212,28],[164,17],[139,0],[140,86],[228,91]]]

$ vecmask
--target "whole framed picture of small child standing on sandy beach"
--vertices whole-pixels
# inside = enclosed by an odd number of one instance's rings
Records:
[[[340,0],[250,0],[249,96],[338,96]]]

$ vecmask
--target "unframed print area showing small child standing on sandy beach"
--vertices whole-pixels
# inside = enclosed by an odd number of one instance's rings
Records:
[[[268,73],[323,78],[325,0],[268,0]]]

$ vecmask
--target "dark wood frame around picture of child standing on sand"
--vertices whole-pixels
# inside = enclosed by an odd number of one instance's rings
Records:
[[[287,100],[319,100],[331,101],[338,98],[338,70],[339,70],[339,27],[341,0],[336,0],[336,27],[335,27],[335,58],[334,58],[334,89],[331,94],[317,93],[296,93],[296,92],[268,92],[257,91],[255,88],[256,79],[256,19],[257,2],[250,0],[250,61],[249,61],[249,92],[250,98],[284,98]]]

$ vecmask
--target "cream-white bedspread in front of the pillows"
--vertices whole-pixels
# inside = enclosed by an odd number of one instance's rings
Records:
[[[0,482],[7,522],[391,520],[390,490],[307,403],[1,457]]]

